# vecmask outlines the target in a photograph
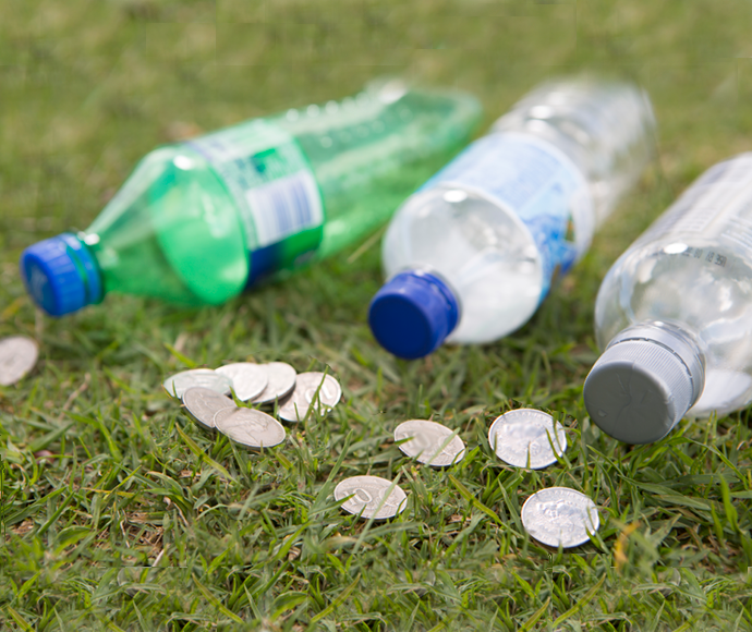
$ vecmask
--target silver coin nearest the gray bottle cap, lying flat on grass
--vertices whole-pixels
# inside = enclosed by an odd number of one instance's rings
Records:
[[[548,441],[550,436],[551,440]],[[556,463],[556,457],[567,449],[563,426],[554,422],[548,413],[534,409],[509,411],[494,421],[488,429],[490,449],[505,463],[516,467],[541,470]],[[551,450],[550,443],[554,443]]]

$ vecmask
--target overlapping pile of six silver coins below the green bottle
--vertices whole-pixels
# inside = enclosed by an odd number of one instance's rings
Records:
[[[217,369],[194,368],[171,375],[162,386],[170,397],[182,401],[199,427],[218,430],[251,450],[279,446],[287,433],[268,413],[238,406],[229,394],[252,405],[277,403],[279,417],[291,423],[304,421],[312,409],[325,414],[342,397],[339,382],[330,375],[298,375],[284,362],[235,362]]]

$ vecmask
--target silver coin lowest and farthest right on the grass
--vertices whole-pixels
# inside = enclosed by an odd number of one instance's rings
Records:
[[[601,526],[598,510],[587,496],[569,487],[548,487],[522,506],[522,524],[541,544],[558,548],[580,546]]]

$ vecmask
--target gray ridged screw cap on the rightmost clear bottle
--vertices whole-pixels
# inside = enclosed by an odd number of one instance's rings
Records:
[[[705,368],[696,345],[663,325],[619,333],[584,386],[591,420],[615,439],[651,443],[665,437],[702,393]]]

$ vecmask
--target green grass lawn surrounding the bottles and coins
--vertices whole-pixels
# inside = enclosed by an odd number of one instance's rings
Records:
[[[0,388],[0,625],[17,630],[752,628],[750,410],[631,448],[590,423],[593,302],[608,266],[699,173],[752,147],[748,2],[4,0],[0,7],[0,336],[41,345]],[[535,83],[596,69],[640,81],[658,160],[591,253],[514,336],[397,361],[373,341],[378,244],[284,283],[184,311],[109,296],[53,320],[21,250],[96,216],[156,144],[405,74],[477,94],[485,126]],[[357,256],[353,256],[357,254]],[[161,391],[184,367],[329,367],[342,403],[263,454],[202,434]],[[550,410],[569,450],[504,466],[487,428]],[[420,466],[393,427],[433,417],[464,461]],[[409,507],[347,515],[344,476],[397,478]],[[591,544],[520,523],[545,486],[601,508]]]

